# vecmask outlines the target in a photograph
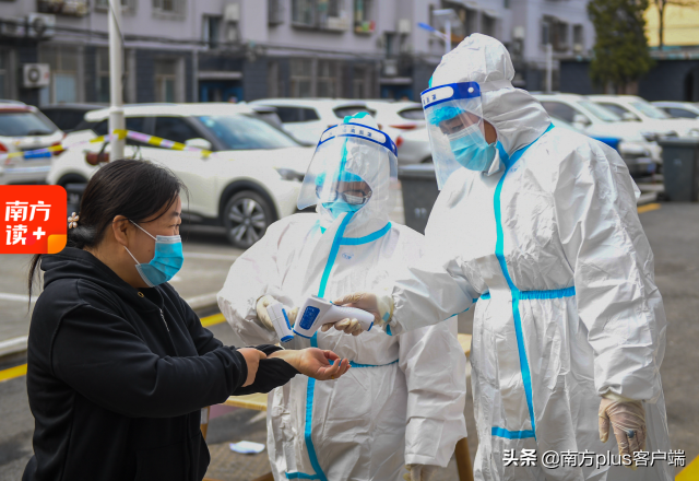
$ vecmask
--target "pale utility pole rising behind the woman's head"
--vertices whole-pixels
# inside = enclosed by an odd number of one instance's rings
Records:
[[[123,51],[121,44],[121,0],[109,0],[109,133],[123,130]],[[123,157],[126,139],[111,138],[111,160]]]

